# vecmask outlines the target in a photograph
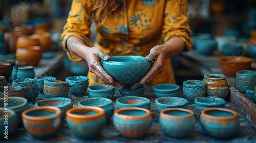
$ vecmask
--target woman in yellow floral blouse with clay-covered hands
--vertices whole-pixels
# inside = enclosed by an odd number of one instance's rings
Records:
[[[97,38],[89,47],[92,21]],[[115,55],[146,56],[153,64],[131,85],[137,88],[145,83],[175,83],[170,57],[190,50],[190,36],[187,0],[73,0],[61,41],[70,59],[88,62],[90,84],[105,82],[123,88],[100,61]]]

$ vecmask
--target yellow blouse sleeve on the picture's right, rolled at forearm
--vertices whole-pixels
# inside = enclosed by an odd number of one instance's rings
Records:
[[[184,51],[189,51],[193,40],[188,24],[187,0],[166,0],[162,40],[165,43],[174,36],[180,37],[186,44]]]

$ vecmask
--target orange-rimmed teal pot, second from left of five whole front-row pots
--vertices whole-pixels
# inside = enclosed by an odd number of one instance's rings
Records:
[[[67,124],[79,138],[95,138],[105,126],[105,111],[100,107],[78,107],[66,113]]]

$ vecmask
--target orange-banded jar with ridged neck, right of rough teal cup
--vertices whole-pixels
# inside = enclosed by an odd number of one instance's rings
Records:
[[[229,94],[229,85],[226,76],[222,74],[205,74],[203,82],[206,85],[206,96],[215,96],[225,99]]]

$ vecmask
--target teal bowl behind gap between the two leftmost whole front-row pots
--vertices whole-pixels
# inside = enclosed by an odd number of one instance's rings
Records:
[[[73,107],[72,100],[69,98],[50,98],[39,100],[35,103],[35,107],[54,106],[61,110],[61,118],[66,117],[66,112]]]

